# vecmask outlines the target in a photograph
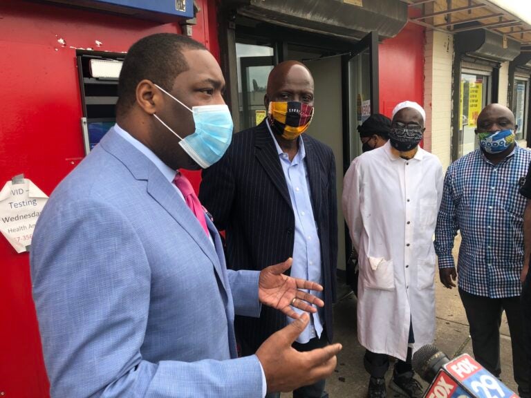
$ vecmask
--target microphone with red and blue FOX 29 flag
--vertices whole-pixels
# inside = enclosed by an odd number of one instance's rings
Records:
[[[429,344],[415,352],[411,363],[420,377],[431,383],[425,398],[518,398],[469,354],[450,360]]]

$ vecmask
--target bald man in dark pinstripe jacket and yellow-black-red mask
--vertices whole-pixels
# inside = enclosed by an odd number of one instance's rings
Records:
[[[324,310],[313,314],[294,347],[327,345],[333,337],[337,262],[335,160],[328,146],[304,134],[313,117],[313,77],[306,66],[285,61],[270,73],[264,97],[268,117],[234,135],[222,160],[203,171],[200,198],[225,229],[227,265],[263,269],[288,257],[291,276],[324,286]],[[236,317],[243,355],[254,353],[286,316],[263,307],[261,317]],[[268,395],[275,397],[278,395]],[[294,397],[327,397],[324,380]]]

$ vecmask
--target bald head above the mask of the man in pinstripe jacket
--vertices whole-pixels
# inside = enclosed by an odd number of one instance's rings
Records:
[[[299,61],[283,61],[275,66],[268,78],[263,98],[265,107],[271,101],[297,101],[313,106],[313,77]]]

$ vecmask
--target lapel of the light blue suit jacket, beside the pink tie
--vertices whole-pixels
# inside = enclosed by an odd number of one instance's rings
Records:
[[[115,131],[111,130],[106,133],[100,144],[106,151],[118,158],[131,171],[136,180],[147,180],[147,193],[195,240],[198,247],[212,261],[223,288],[227,290],[220,260],[214,245],[209,241],[196,216],[187,207],[185,201],[180,198],[171,182],[162,175],[151,160],[121,138]]]

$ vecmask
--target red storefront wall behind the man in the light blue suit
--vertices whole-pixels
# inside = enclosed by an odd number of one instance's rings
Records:
[[[196,3],[201,12],[193,37],[218,57],[215,1]],[[180,33],[180,26],[30,1],[0,3],[0,189],[24,173],[50,195],[82,160],[75,48],[124,52],[155,32]],[[199,175],[192,180],[198,184]],[[29,256],[17,254],[3,237],[0,321],[0,397],[48,397]]]

